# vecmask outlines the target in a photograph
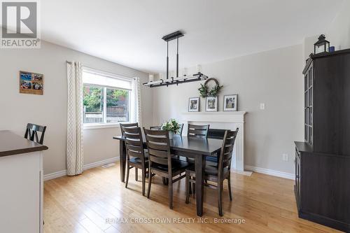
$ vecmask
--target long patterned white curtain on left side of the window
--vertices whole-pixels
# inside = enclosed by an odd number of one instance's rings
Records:
[[[67,61],[68,108],[66,167],[68,176],[83,173],[83,78],[80,62]]]

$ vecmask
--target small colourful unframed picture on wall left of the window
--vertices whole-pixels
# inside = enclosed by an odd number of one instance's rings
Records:
[[[43,74],[20,71],[20,93],[43,94]]]

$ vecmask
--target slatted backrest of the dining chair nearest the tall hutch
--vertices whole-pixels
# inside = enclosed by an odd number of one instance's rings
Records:
[[[236,131],[226,130],[223,137],[223,146],[221,146],[221,154],[218,161],[218,176],[222,175],[223,169],[231,167],[232,151],[235,146],[235,140],[238,134],[238,128]]]

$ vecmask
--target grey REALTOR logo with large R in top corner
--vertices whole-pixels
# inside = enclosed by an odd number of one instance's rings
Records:
[[[40,48],[38,1],[1,1],[0,48]]]

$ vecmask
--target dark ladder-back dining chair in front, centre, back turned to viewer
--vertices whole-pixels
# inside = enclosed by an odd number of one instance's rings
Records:
[[[186,177],[186,174],[181,175],[181,173],[185,172],[190,164],[172,157],[169,132],[144,128],[144,133],[149,154],[147,198],[150,198],[151,195],[152,174],[168,178],[169,209],[173,209],[173,183]]]

